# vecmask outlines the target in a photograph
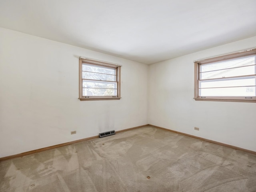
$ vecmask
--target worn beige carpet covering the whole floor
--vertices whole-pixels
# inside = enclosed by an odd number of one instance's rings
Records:
[[[147,126],[0,162],[0,191],[256,192],[256,156]]]

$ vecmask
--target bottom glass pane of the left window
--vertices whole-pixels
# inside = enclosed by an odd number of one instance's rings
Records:
[[[117,96],[116,89],[83,88],[83,96]]]

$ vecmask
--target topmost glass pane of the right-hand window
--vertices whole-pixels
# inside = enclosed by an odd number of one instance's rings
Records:
[[[240,67],[240,66],[248,66],[248,65],[254,65],[254,64],[255,64],[255,55],[252,55],[252,56],[246,56],[242,58],[236,58],[236,59],[201,65],[200,72],[207,72],[207,71]]]

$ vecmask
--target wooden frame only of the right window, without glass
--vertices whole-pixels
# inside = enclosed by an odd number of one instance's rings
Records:
[[[250,56],[250,55],[256,55],[256,48],[242,50],[242,51],[231,53],[231,54],[225,54],[225,55],[221,55],[221,56],[216,56],[216,57],[212,57],[212,58],[206,58],[206,59],[194,61],[194,100],[196,100],[196,101],[226,101],[226,102],[256,102],[256,96],[253,96],[253,97],[250,97],[250,96],[248,96],[248,97],[246,97],[246,96],[207,96],[207,97],[205,96],[205,97],[201,97],[201,96],[199,96],[200,66],[201,65],[210,64],[210,63],[214,63],[214,62],[221,62],[221,61],[230,60],[230,59],[242,58],[242,57]],[[224,77],[224,78],[235,79],[235,77],[238,78],[238,77],[246,77],[246,76],[247,77],[248,76],[256,77],[256,74],[244,75],[244,76],[234,76],[234,77]],[[217,78],[217,79],[222,79],[222,78]],[[255,89],[256,89],[256,87],[255,87]]]

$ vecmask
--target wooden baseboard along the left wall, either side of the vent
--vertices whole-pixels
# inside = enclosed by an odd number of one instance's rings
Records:
[[[137,126],[137,127],[132,127],[132,128],[124,129],[124,130],[119,130],[119,131],[116,131],[116,133],[132,130],[132,129],[136,129],[136,128],[141,128],[141,127],[145,127],[145,126],[148,126],[148,124],[142,125],[142,126]],[[79,139],[79,140],[74,140],[74,141],[70,141],[70,142],[67,142],[67,143],[62,143],[62,144],[58,144],[58,145],[54,145],[54,146],[49,146],[49,147],[45,147],[45,148],[41,148],[41,149],[36,149],[36,150],[32,150],[32,151],[28,151],[28,152],[24,152],[24,153],[20,153],[20,154],[15,154],[15,155],[10,155],[10,156],[6,156],[6,157],[1,157],[0,161],[9,160],[9,159],[17,158],[17,157],[23,157],[23,156],[26,156],[26,155],[30,155],[30,154],[34,154],[34,153],[50,150],[50,149],[55,149],[55,148],[58,148],[58,147],[62,147],[62,146],[66,146],[66,145],[71,145],[71,144],[74,144],[74,143],[78,143],[78,142],[82,142],[82,141],[87,141],[87,140],[91,140],[91,139],[95,139],[95,138],[99,138],[99,136],[98,135],[97,136],[92,136],[92,137],[88,137],[88,138],[84,138],[84,139]]]

